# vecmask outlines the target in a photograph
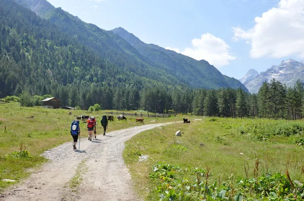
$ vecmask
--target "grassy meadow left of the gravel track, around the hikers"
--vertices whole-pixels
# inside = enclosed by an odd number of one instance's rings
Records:
[[[75,116],[90,115],[97,119],[97,135],[103,133],[101,117],[108,111],[46,109],[20,107],[19,103],[0,102],[0,192],[9,185],[26,178],[33,170],[46,162],[40,155],[47,149],[64,142],[71,142],[70,123]],[[72,115],[68,115],[72,112]],[[116,111],[114,111],[116,112]],[[127,112],[127,111],[126,111]],[[142,112],[142,111],[140,111]],[[33,116],[33,118],[31,118]],[[109,122],[107,132],[142,125],[134,117],[127,121]],[[155,118],[145,118],[148,123]],[[158,118],[158,122],[176,121],[177,118]],[[80,121],[82,122],[82,121]],[[81,123],[82,138],[87,138],[86,123]],[[20,152],[21,151],[21,152]],[[72,151],[72,146],[71,146]],[[15,182],[4,181],[15,180]]]

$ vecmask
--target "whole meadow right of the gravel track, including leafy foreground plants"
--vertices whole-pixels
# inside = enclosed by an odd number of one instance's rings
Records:
[[[195,119],[126,142],[125,162],[146,200],[304,199],[303,120]]]

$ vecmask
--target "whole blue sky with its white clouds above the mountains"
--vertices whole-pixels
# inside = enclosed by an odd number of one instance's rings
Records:
[[[48,0],[85,22],[123,27],[146,43],[204,59],[242,78],[304,61],[303,0]]]

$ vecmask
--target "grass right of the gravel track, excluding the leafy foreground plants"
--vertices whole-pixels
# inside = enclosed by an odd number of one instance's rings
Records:
[[[297,180],[303,183],[304,147],[295,142],[302,137],[303,121],[232,118],[191,120],[191,124],[167,125],[142,132],[126,143],[125,161],[136,181],[138,193],[147,200],[159,200],[162,195],[170,197],[182,193],[179,187],[183,185],[186,178],[196,185],[197,175],[185,171],[195,168],[210,172],[209,178],[202,179],[203,182],[209,181],[210,185],[216,182],[218,184],[216,189],[224,183],[231,183],[231,186],[238,187],[241,193],[239,196],[248,195],[247,191],[240,190],[243,188],[238,186],[240,181],[249,185],[250,182],[246,178],[260,180],[265,177],[265,181],[270,181],[272,175],[280,174],[280,176],[274,176],[279,186],[283,178],[289,182],[284,176],[288,171],[292,181]],[[174,135],[176,130],[182,132],[181,137]],[[138,154],[135,155],[134,150],[137,150],[140,155],[149,156],[148,160],[139,162]],[[161,173],[163,176],[157,179],[149,177],[154,172],[153,167],[160,163],[183,170],[175,170],[170,173],[173,175],[169,176],[169,178],[180,179],[181,182],[177,185],[179,187],[173,187],[173,184],[167,183],[166,190],[162,188],[161,184],[164,184],[163,179],[166,180],[167,173]],[[182,176],[176,176],[181,172]],[[256,187],[259,188],[257,185]],[[250,186],[247,188],[250,190]],[[170,194],[171,189],[174,189],[174,193]],[[294,190],[292,187],[288,189],[291,192]],[[251,190],[252,195],[249,196],[260,197],[259,191],[254,191],[253,188]],[[225,189],[226,195],[227,191]],[[216,190],[214,192],[219,193]],[[226,196],[223,200],[235,199],[236,195],[237,193],[230,198]],[[167,200],[165,197],[163,199]]]

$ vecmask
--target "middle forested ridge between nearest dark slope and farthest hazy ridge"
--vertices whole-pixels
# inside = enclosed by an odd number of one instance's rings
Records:
[[[50,7],[45,0],[16,0],[16,2],[33,11],[38,10],[38,15],[49,19],[72,39],[92,48],[101,58],[128,72],[168,85],[186,86],[176,77],[159,69],[156,64],[141,56],[132,45],[111,31],[105,31],[94,24],[85,23],[61,8]]]

